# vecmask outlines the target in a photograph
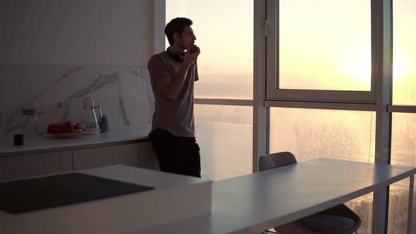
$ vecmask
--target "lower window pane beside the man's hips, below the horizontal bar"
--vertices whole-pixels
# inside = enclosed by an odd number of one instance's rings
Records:
[[[252,107],[195,105],[202,178],[252,173]]]

